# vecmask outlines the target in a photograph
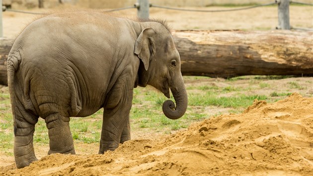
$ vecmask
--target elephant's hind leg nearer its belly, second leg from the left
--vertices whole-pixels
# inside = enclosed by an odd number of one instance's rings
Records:
[[[70,117],[54,113],[45,117],[45,121],[50,139],[48,154],[75,154],[74,141],[69,125]]]

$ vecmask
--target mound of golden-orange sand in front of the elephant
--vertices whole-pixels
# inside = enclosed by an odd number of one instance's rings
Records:
[[[0,175],[312,175],[313,98],[294,93],[272,104],[255,100],[241,114],[212,117],[165,139],[9,167]]]

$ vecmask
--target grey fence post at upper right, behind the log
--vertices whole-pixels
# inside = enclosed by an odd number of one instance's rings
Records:
[[[278,0],[278,28],[290,29],[289,0]]]

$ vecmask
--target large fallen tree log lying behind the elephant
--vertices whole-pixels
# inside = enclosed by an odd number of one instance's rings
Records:
[[[186,76],[313,75],[313,32],[184,30],[173,37]],[[0,84],[6,85],[13,39],[0,41]]]

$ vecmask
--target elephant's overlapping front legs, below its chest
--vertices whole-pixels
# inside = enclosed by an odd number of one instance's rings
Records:
[[[115,150],[120,142],[130,139],[129,113],[133,89],[114,88],[108,97],[103,112],[99,154]]]

